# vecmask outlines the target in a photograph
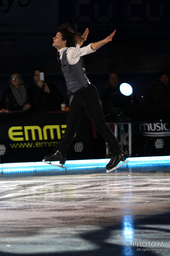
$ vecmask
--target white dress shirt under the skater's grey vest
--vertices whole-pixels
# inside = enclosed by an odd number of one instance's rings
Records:
[[[91,49],[91,44],[81,47],[81,48],[80,48],[79,44],[77,44],[76,47],[64,47],[59,50],[61,61],[62,61],[62,54],[66,49],[68,49],[67,53],[66,53],[66,60],[70,65],[76,64],[80,60],[81,56],[95,52]]]

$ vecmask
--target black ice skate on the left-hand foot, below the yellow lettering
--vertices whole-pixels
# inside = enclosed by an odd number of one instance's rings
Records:
[[[66,154],[60,152],[59,150],[55,150],[51,155],[44,156],[44,159],[42,161],[46,164],[50,164],[50,165],[53,165],[53,166],[57,166],[57,167],[61,167],[61,168],[66,169],[66,167],[63,166],[63,164],[66,161],[66,157],[67,157]],[[52,162],[53,161],[60,161],[61,165],[52,164],[51,161]]]

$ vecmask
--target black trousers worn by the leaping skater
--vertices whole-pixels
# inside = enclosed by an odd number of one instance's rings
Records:
[[[87,113],[95,129],[102,135],[109,145],[112,156],[120,154],[121,149],[116,137],[105,123],[103,111],[99,103],[99,94],[93,84],[89,84],[81,92],[74,94],[70,104],[70,111],[66,121],[66,130],[62,142],[58,144],[58,150],[66,153],[76,133],[77,126],[84,113]]]

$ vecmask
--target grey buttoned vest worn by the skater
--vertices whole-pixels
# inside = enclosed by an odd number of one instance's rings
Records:
[[[71,92],[75,92],[85,86],[89,80],[86,77],[86,70],[84,68],[83,58],[74,64],[70,65],[66,60],[67,49],[62,54],[61,70],[66,81],[67,89]]]

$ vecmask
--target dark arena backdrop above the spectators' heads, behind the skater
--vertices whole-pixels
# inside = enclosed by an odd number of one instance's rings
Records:
[[[30,71],[37,66],[65,94],[52,44],[58,26],[69,22],[80,33],[89,28],[84,45],[117,30],[112,42],[84,56],[87,77],[102,95],[108,74],[119,72],[141,100],[158,72],[169,69],[169,10],[169,0],[1,0],[0,98],[11,72],[20,73],[29,86]]]

